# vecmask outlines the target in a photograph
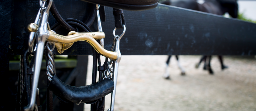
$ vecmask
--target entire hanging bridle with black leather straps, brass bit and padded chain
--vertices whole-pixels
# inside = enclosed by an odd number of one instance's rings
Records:
[[[18,89],[20,91],[20,104],[21,110],[25,111],[40,111],[40,100],[39,100],[39,89],[38,81],[41,70],[41,63],[43,54],[46,59],[47,66],[47,110],[52,110],[52,93],[65,103],[80,103],[91,104],[91,110],[98,110],[100,107],[104,110],[104,97],[111,93],[111,105],[108,111],[114,110],[115,93],[116,93],[116,83],[118,76],[118,66],[121,60],[120,53],[120,40],[125,34],[125,20],[123,15],[123,10],[131,11],[142,11],[153,9],[157,6],[159,0],[138,0],[138,1],[94,1],[94,0],[82,0],[89,3],[93,3],[93,10],[88,17],[86,23],[83,23],[77,19],[63,19],[58,13],[53,0],[39,0],[39,11],[35,18],[35,22],[27,26],[29,34],[28,39],[28,50],[24,54],[23,62],[25,77],[20,74],[21,78],[25,78],[25,83],[23,79],[19,80],[18,84],[25,84],[25,91],[22,88]],[[45,4],[48,4],[45,7]],[[113,15],[115,17],[115,28],[113,30],[113,43],[110,51],[104,49],[104,38],[105,33],[102,30],[101,21],[105,19],[105,8],[100,8],[99,4],[104,4],[106,6],[113,7]],[[122,9],[121,9],[122,8]],[[57,23],[50,27],[48,23],[49,11],[56,19]],[[96,11],[96,14],[95,14]],[[100,16],[101,15],[101,16]],[[97,31],[92,32],[90,26],[92,25],[94,19],[97,17]],[[72,25],[72,26],[71,26]],[[75,26],[75,27],[73,27]],[[69,33],[67,36],[63,36],[58,33],[58,29],[66,28]],[[117,29],[123,29],[122,34],[115,35]],[[56,33],[57,32],[57,33]],[[36,41],[36,42],[35,42]],[[55,71],[55,61],[54,61],[54,49],[56,47],[58,53],[63,53],[65,50],[69,49],[74,42],[86,41],[92,46],[93,55],[93,77],[92,84],[87,86],[74,87],[67,85],[62,82],[56,75]],[[47,42],[47,43],[46,43]],[[45,46],[46,43],[46,46]],[[35,46],[34,46],[35,44]],[[101,66],[100,55],[106,57],[104,64]],[[31,56],[31,62],[29,64],[29,56]],[[22,56],[23,57],[23,56]],[[99,66],[97,67],[97,59]],[[110,61],[108,61],[110,59]],[[112,65],[112,66],[111,66]],[[97,69],[99,71],[99,82],[96,82]],[[30,86],[32,84],[32,86]],[[26,92],[26,96],[23,96]],[[23,108],[22,101],[27,98],[28,105]],[[17,99],[18,101],[18,99]],[[16,104],[17,105],[17,104]],[[16,106],[17,107],[17,106]],[[92,108],[93,107],[93,108]],[[101,109],[101,110],[102,110]]]

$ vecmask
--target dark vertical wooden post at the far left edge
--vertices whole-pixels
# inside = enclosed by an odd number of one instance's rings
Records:
[[[5,95],[8,97],[6,101],[1,101],[0,106],[1,110],[14,110],[17,92],[12,92],[10,87],[12,84],[9,83],[9,78],[13,76],[13,74],[8,73],[9,71],[9,45],[10,45],[10,29],[12,24],[12,12],[13,12],[13,1],[0,0],[0,81],[2,84],[1,95]],[[8,84],[6,84],[6,82]]]

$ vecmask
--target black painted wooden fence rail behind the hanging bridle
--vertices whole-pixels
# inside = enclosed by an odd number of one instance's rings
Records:
[[[66,4],[62,5],[65,2],[66,0],[55,2],[57,8],[63,9],[59,10],[62,17],[80,19],[80,14],[70,13],[81,12],[81,1],[67,1],[70,2],[68,7]],[[72,11],[68,10],[70,8]],[[34,18],[36,13],[33,14],[26,15],[26,20]],[[124,11],[124,15],[126,33],[120,43],[122,55],[256,54],[254,23],[162,4],[152,10]],[[51,16],[49,21],[51,25],[56,22]],[[95,29],[95,25],[94,23],[91,28]],[[106,7],[106,22],[102,22],[102,27],[106,33],[105,49],[109,50],[114,29],[114,17],[110,7]],[[121,31],[117,34],[121,34]],[[28,33],[25,30],[24,32],[26,36],[22,50],[13,50],[12,55],[23,54],[26,50]],[[61,55],[91,55],[91,46],[80,41]]]

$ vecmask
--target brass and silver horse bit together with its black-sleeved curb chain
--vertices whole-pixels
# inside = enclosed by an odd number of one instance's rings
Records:
[[[120,40],[123,37],[125,33],[125,25],[123,25],[123,33],[118,36],[115,35],[116,28],[113,30],[113,44],[111,47],[111,50],[105,50],[104,49],[104,38],[105,38],[105,33],[102,31],[101,27],[101,22],[100,22],[100,15],[99,15],[99,7],[100,5],[96,4],[96,9],[97,9],[97,21],[98,21],[98,31],[97,32],[83,32],[83,33],[78,33],[76,31],[70,31],[68,33],[68,36],[63,36],[56,34],[55,31],[50,29],[49,23],[48,23],[48,16],[49,16],[49,10],[51,8],[53,0],[48,0],[48,6],[45,7],[46,1],[40,0],[40,9],[38,11],[35,23],[31,23],[27,26],[27,29],[30,32],[29,35],[29,45],[28,45],[28,53],[30,55],[33,53],[33,47],[34,47],[34,41],[36,39],[36,46],[34,49],[35,52],[35,61],[34,61],[34,66],[33,67],[33,83],[32,83],[32,88],[31,88],[31,96],[30,96],[30,103],[28,104],[27,107],[24,107],[25,111],[32,111],[34,108],[38,110],[37,105],[35,104],[36,101],[36,95],[37,95],[37,86],[38,86],[38,80],[39,80],[39,74],[40,74],[40,69],[41,69],[41,62],[42,62],[42,57],[44,53],[44,49],[48,50],[47,58],[48,58],[48,65],[47,65],[47,78],[50,81],[50,84],[48,85],[48,88],[56,94],[59,98],[63,99],[64,101],[72,101],[73,103],[80,104],[80,103],[86,103],[90,101],[97,100],[99,98],[102,98],[112,92],[111,96],[111,107],[108,109],[109,111],[114,110],[114,102],[115,102],[115,91],[116,91],[116,82],[117,82],[117,76],[118,76],[118,66],[119,62],[121,60],[121,53],[119,50],[119,44]],[[35,36],[35,37],[34,37]],[[99,40],[100,43],[98,43]],[[45,45],[45,42],[46,46]],[[96,94],[88,94],[92,96],[80,96],[77,95],[77,97],[67,97],[65,94],[69,93],[78,93],[80,94],[81,92],[77,91],[78,87],[73,87],[66,85],[65,83],[61,82],[57,76],[55,76],[55,67],[54,67],[54,54],[53,50],[56,47],[59,53],[63,53],[66,49],[68,49],[74,42],[77,41],[86,41],[88,42],[95,51],[97,51],[100,55],[105,56],[110,59],[110,61],[106,62],[107,63],[107,69],[104,71],[103,79],[101,82],[94,83],[92,85],[88,86],[81,86],[80,88],[83,88],[82,93],[88,93],[88,90],[91,87],[95,87],[95,89],[90,89],[90,90],[95,90]],[[63,50],[64,49],[64,50]],[[31,55],[33,56],[33,55]],[[112,65],[112,67],[110,67]],[[107,75],[107,73],[109,73]],[[111,74],[112,73],[112,74]],[[55,84],[51,84],[54,81]],[[60,84],[64,84],[63,86],[58,86],[58,82]],[[56,85],[58,84],[58,85]],[[106,84],[108,84],[106,86]],[[90,86],[90,87],[89,87]],[[65,87],[67,89],[70,89],[71,92],[62,92],[64,89],[61,89]],[[99,88],[104,88],[105,89],[100,89]],[[72,92],[75,91],[75,92]],[[65,94],[62,94],[65,93]],[[83,94],[82,94],[83,95]],[[95,95],[97,97],[95,97]],[[100,95],[100,96],[99,96]],[[68,95],[70,96],[70,95]],[[88,98],[93,98],[93,100],[88,99]]]

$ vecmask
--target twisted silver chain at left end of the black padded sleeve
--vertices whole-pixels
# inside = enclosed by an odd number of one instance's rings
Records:
[[[52,48],[50,48],[49,45],[52,45]],[[48,58],[48,65],[47,65],[47,72],[46,74],[48,75],[48,80],[51,81],[51,78],[52,78],[52,74],[54,74],[54,61],[53,61],[53,58],[54,58],[54,54],[52,53],[52,51],[54,50],[55,48],[55,43],[54,42],[50,42],[48,41],[46,43],[46,47],[47,50],[48,50],[48,55],[47,55],[47,58]]]

